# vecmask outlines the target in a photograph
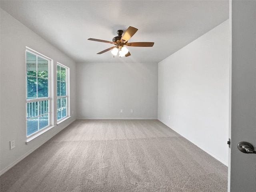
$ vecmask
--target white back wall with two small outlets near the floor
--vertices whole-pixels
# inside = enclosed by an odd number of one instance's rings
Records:
[[[157,119],[157,63],[80,63],[76,82],[78,119]]]

